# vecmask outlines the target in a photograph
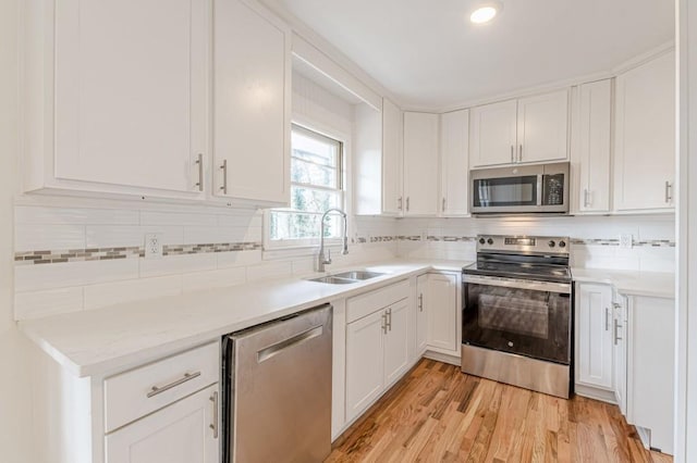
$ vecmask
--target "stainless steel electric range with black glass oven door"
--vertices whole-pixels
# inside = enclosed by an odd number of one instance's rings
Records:
[[[568,239],[479,236],[463,268],[462,371],[568,398]]]

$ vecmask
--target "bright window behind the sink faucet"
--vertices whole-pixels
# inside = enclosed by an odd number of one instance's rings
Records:
[[[316,245],[320,220],[330,208],[343,209],[341,141],[293,125],[291,132],[291,207],[269,213],[272,248]],[[339,238],[339,216],[325,221],[325,238]]]

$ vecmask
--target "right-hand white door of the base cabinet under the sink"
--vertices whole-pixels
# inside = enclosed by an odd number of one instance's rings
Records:
[[[384,336],[384,385],[391,385],[409,367],[408,299],[388,308],[388,333]]]

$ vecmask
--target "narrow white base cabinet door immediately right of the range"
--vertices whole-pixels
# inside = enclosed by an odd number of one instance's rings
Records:
[[[612,288],[578,284],[576,383],[612,389]]]

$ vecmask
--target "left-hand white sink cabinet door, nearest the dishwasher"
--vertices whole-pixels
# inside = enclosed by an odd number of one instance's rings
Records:
[[[346,422],[382,392],[384,311],[346,325]]]

